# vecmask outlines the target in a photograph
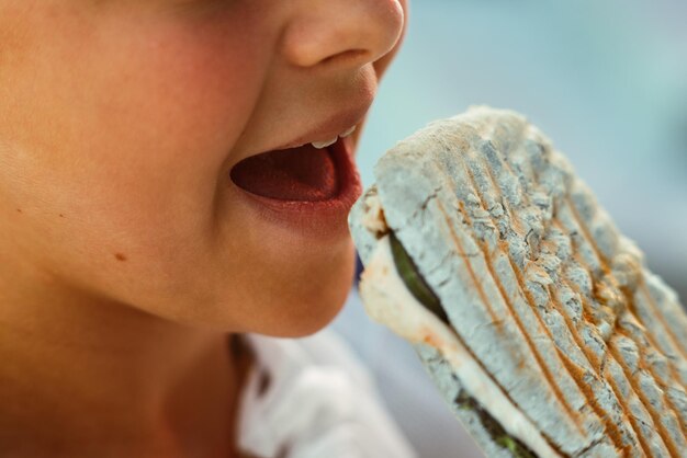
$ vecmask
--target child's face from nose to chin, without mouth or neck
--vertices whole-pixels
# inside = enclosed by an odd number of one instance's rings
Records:
[[[402,7],[0,0],[0,251],[21,260],[16,287],[232,331],[324,325],[351,282],[345,217],[275,218],[229,172],[362,115]]]

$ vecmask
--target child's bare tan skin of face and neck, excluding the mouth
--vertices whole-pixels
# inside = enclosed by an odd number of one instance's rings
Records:
[[[326,325],[353,250],[228,172],[371,103],[405,13],[0,0],[0,455],[237,455],[227,335]]]

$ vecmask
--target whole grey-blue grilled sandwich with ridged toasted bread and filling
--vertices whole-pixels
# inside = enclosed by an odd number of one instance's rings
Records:
[[[537,127],[472,107],[374,176],[349,215],[365,310],[487,456],[687,457],[685,310]]]

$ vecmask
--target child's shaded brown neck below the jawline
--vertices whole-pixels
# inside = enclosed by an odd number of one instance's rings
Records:
[[[24,284],[0,276],[0,444],[111,442],[164,456],[204,444],[203,456],[226,456],[238,391],[228,334],[46,277]]]

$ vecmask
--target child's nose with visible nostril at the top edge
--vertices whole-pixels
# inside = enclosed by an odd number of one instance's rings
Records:
[[[282,35],[290,64],[360,67],[388,53],[403,31],[398,0],[296,0]]]

